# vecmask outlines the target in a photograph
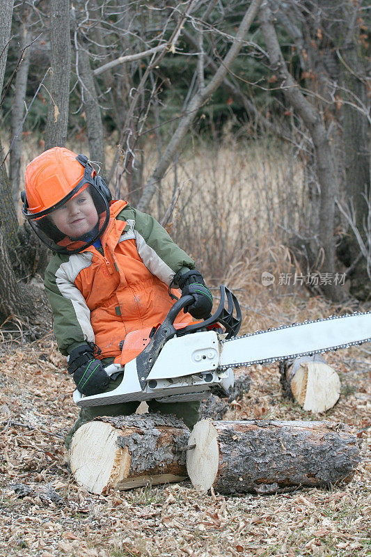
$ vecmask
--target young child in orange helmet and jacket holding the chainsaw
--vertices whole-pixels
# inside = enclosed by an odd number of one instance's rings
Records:
[[[112,391],[104,366],[120,354],[130,331],[157,327],[175,303],[171,287],[194,302],[175,320],[189,324],[212,311],[212,295],[195,263],[150,215],[126,201],[112,201],[104,180],[84,155],[54,147],[26,168],[22,213],[53,256],[45,289],[54,335],[68,372],[84,395]],[[177,292],[180,296],[180,292]],[[185,313],[185,312],[189,312]],[[66,438],[96,416],[132,414],[139,402],[81,409]],[[150,411],[175,414],[188,427],[199,402],[148,402]]]

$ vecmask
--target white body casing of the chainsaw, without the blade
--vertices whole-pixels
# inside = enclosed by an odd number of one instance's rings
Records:
[[[171,338],[159,353],[143,389],[136,358],[125,368],[115,363],[106,367],[109,375],[123,372],[123,380],[114,391],[84,396],[76,390],[74,402],[79,407],[152,398],[159,402],[187,402],[207,398],[214,389],[227,393],[233,386],[233,371],[218,369],[219,355],[219,338],[214,331]]]

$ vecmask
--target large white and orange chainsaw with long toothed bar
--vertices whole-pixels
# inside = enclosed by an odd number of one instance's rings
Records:
[[[233,369],[299,358],[371,341],[371,311],[331,315],[324,319],[282,325],[237,336],[242,313],[235,295],[220,287],[220,303],[208,319],[182,327],[175,318],[193,297],[181,297],[157,329],[134,331],[123,350],[105,370],[123,374],[118,387],[85,396],[74,391],[74,402],[89,407],[130,400],[186,402],[210,393],[228,396]]]

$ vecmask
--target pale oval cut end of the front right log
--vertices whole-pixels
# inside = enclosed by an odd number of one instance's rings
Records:
[[[206,492],[216,478],[219,469],[218,433],[210,420],[201,420],[194,426],[189,437],[187,471],[194,488]]]

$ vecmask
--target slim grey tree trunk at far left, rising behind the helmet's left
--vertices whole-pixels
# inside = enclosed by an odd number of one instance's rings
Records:
[[[31,31],[28,29],[29,17],[19,26],[21,48],[24,49],[31,41]],[[24,116],[24,100],[26,98],[27,79],[29,77],[30,48],[24,51],[22,63],[15,76],[15,95],[12,109],[12,140],[15,138],[10,151],[9,175],[12,188],[13,203],[17,212],[19,202],[19,177],[22,156],[22,120]],[[22,127],[21,127],[22,126]]]

